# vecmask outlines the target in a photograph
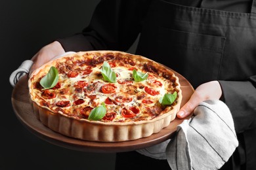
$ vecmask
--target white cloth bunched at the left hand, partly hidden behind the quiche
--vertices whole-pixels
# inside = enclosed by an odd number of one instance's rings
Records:
[[[60,56],[56,56],[53,59],[56,58],[60,58],[62,56],[66,56],[68,54],[74,54],[75,52],[65,52],[64,54],[60,55]],[[51,59],[51,60],[53,60]],[[31,60],[25,60],[22,62],[22,64],[20,65],[20,67],[18,67],[18,69],[16,69],[15,71],[13,71],[11,73],[11,76],[9,77],[9,82],[11,83],[12,87],[15,86],[15,84],[18,82],[18,80],[20,80],[20,78],[22,78],[22,76],[30,73],[30,68],[33,65],[33,61]]]

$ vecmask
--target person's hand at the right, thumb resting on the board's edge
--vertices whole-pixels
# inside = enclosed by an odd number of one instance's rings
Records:
[[[220,99],[222,95],[221,85],[218,81],[205,82],[196,88],[189,101],[177,113],[178,118],[186,118],[200,102],[207,99]]]

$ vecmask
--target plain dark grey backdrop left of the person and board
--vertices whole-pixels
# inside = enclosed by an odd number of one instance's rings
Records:
[[[0,1],[0,169],[114,169],[115,153],[69,150],[28,131],[12,109],[13,88],[9,83],[12,71],[41,47],[87,26],[98,2]],[[133,49],[128,52],[133,53]]]

